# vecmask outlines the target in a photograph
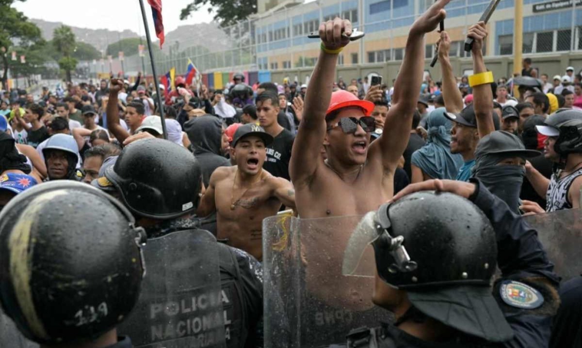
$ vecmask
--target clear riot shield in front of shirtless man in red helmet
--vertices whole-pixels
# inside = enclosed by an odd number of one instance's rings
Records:
[[[392,320],[372,303],[374,278],[342,275],[344,250],[360,219],[263,220],[265,347],[345,345],[351,329]]]

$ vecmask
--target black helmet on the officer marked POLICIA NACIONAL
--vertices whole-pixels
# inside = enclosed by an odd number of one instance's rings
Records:
[[[165,139],[142,139],[127,145],[105,177],[134,214],[171,219],[198,206],[202,170],[183,146]]]

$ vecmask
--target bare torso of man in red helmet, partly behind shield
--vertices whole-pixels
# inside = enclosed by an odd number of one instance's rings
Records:
[[[343,181],[331,168],[321,163],[315,177],[308,185],[295,186],[295,201],[301,220],[361,216],[377,210],[393,195],[393,171],[384,170],[381,164],[364,164],[354,182]],[[341,307],[361,311],[372,307],[373,278],[343,277],[342,260],[347,242],[359,217],[311,220],[303,224],[313,225],[301,234],[301,250],[307,263],[325,264],[325,272],[308,267],[307,284],[315,286],[308,291],[320,299],[334,299]],[[303,225],[302,225],[303,226]],[[361,261],[374,267],[373,257],[363,256]]]

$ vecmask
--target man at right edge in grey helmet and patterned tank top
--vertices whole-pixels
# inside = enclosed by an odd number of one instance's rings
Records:
[[[535,127],[539,134],[547,137],[544,156],[554,163],[550,180],[526,164],[526,176],[540,197],[546,198],[545,211],[556,211],[580,207],[582,188],[582,112],[563,110],[551,114],[545,125]],[[531,202],[526,212],[543,213],[539,205]]]

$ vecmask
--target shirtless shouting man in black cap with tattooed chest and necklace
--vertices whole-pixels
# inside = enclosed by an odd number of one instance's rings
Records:
[[[218,167],[198,206],[198,216],[217,211],[218,239],[262,259],[262,219],[281,205],[295,207],[293,185],[262,169],[273,137],[258,125],[241,125],[230,143],[236,166]]]

